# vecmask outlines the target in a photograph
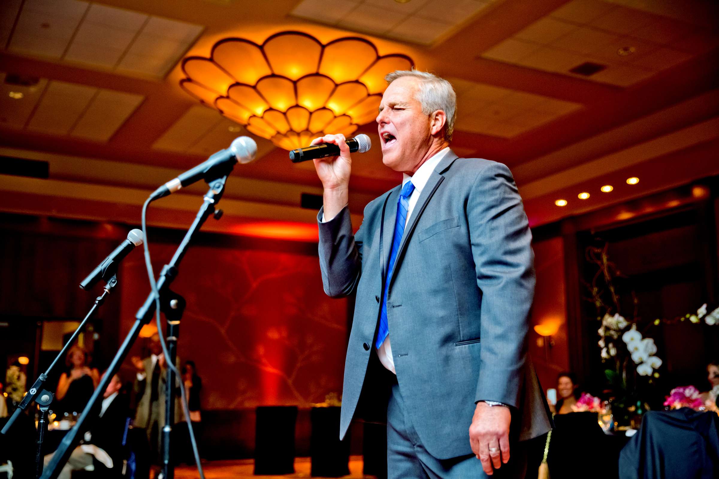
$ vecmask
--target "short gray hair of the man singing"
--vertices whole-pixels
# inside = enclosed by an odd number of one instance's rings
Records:
[[[402,77],[413,77],[419,80],[416,99],[422,106],[422,113],[430,113],[441,110],[447,117],[444,128],[444,139],[452,141],[454,133],[454,120],[457,119],[457,94],[454,93],[452,83],[444,78],[439,78],[429,72],[419,70],[395,70],[385,76],[389,85],[394,80]]]

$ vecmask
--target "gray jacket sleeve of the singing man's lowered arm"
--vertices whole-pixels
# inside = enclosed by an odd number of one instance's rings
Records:
[[[467,201],[477,287],[482,294],[476,401],[518,407],[534,296],[531,232],[505,165],[482,168]]]

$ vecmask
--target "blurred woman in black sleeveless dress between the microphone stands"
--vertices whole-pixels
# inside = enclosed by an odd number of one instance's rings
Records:
[[[100,382],[100,373],[96,368],[90,368],[88,353],[80,346],[73,346],[68,350],[65,366],[68,371],[60,375],[58,392],[55,394],[60,401],[58,411],[79,413],[85,409]]]

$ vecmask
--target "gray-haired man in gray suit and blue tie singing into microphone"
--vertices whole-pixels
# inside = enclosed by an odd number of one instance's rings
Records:
[[[313,141],[341,151],[314,160],[324,290],[357,297],[340,437],[361,393],[387,410],[390,478],[523,477],[521,441],[550,419],[527,355],[534,271],[521,198],[503,164],[449,149],[449,82],[416,70],[386,80],[383,162],[403,182],[367,205],[354,235],[344,136]]]

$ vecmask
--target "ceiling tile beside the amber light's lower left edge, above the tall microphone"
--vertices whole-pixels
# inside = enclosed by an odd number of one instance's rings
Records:
[[[191,106],[152,144],[152,148],[186,152],[222,120],[219,111],[201,105]]]

